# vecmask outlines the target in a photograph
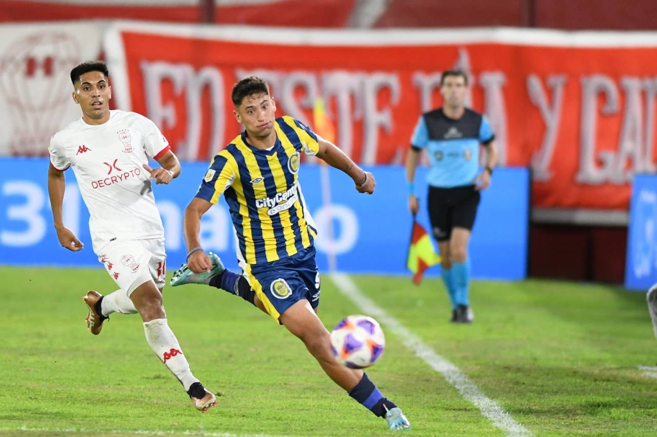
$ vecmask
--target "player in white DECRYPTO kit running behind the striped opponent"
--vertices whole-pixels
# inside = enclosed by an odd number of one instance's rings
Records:
[[[64,171],[72,167],[89,209],[93,251],[120,287],[102,296],[89,291],[87,327],[101,333],[114,312],[139,313],[150,348],[177,377],[196,409],[205,412],[217,401],[194,377],[171,332],[162,305],[166,274],[164,228],[151,181],[168,184],[180,163],[156,125],[134,112],[109,109],[112,89],[102,62],[85,62],[71,71],[73,100],[82,117],[53,136],[49,147],[48,192],[57,238],[70,251],[84,245],[62,218]],[[161,168],[151,169],[148,157]]]

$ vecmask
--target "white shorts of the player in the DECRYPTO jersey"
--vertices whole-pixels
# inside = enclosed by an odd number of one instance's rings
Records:
[[[104,246],[98,260],[127,295],[139,285],[155,281],[159,289],[166,281],[164,239],[113,241]]]

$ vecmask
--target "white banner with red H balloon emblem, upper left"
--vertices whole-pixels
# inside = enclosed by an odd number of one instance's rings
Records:
[[[0,26],[0,156],[43,156],[81,116],[70,71],[101,52],[106,22]]]

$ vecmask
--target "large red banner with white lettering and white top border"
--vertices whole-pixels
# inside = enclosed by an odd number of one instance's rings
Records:
[[[440,72],[460,67],[501,163],[532,167],[533,206],[625,209],[633,173],[655,171],[657,33],[116,24],[105,42],[117,106],[155,121],[183,159],[237,135],[231,88],[256,74],[278,114],[311,124],[322,96],[342,150],[401,163],[419,115],[442,104]]]

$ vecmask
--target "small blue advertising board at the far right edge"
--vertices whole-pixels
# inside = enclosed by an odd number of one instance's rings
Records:
[[[647,291],[657,283],[657,175],[635,175],[627,232],[625,287]]]

